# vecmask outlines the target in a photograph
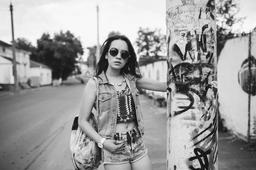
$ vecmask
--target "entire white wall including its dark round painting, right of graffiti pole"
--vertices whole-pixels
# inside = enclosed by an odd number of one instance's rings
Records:
[[[250,40],[250,41],[249,41]],[[250,48],[249,48],[250,46]],[[251,58],[248,60],[249,51]],[[251,92],[249,91],[249,69]],[[227,42],[218,59],[219,114],[232,133],[256,139],[256,31]],[[249,133],[250,132],[250,133]]]

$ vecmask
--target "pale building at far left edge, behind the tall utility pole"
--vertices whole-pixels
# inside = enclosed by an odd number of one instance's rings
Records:
[[[27,82],[29,78],[29,51],[16,48],[17,81]],[[14,85],[12,45],[0,40],[0,84],[4,90],[11,90]]]

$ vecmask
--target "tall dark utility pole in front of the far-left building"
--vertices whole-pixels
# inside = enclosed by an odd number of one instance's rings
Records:
[[[14,40],[14,28],[13,28],[13,16],[12,16],[12,3],[10,5],[11,19],[12,19],[12,64],[13,64],[13,76],[14,76],[14,91],[17,91],[18,81],[17,81],[17,64],[16,64],[16,54],[15,54],[15,40]]]

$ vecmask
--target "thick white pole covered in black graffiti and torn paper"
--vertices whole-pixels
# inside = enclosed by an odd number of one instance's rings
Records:
[[[215,0],[166,0],[167,170],[218,170]]]

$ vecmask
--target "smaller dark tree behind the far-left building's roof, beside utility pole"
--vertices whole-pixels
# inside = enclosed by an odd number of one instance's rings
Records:
[[[38,61],[38,54],[36,52],[36,48],[32,45],[32,43],[29,40],[25,38],[17,38],[17,40],[15,40],[15,45],[16,48],[20,48],[22,50],[31,52],[29,56],[30,59]]]

